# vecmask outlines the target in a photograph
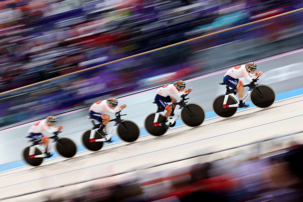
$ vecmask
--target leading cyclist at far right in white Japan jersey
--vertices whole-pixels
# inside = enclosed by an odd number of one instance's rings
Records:
[[[223,83],[228,85],[231,88],[235,88],[235,93],[238,93],[240,100],[239,108],[248,107],[243,103],[243,83],[239,78],[244,77],[247,81],[251,82],[252,79],[257,78],[262,75],[262,71],[259,71],[254,74],[257,69],[257,65],[253,62],[247,63],[246,65],[236,66],[230,68],[223,78]]]

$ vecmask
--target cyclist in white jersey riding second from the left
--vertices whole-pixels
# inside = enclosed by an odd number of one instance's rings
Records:
[[[115,114],[118,111],[121,111],[126,107],[126,104],[122,104],[120,107],[115,108],[118,105],[118,100],[116,98],[109,98],[108,100],[102,100],[95,102],[92,104],[92,106],[89,108],[89,116],[93,119],[96,119],[101,123],[98,132],[105,136],[106,142],[112,142],[111,137],[109,137],[108,134],[106,134],[106,124],[110,120],[110,116],[107,114],[102,114],[104,111],[111,112]]]

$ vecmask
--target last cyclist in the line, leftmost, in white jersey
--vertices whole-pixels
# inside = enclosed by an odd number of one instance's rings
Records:
[[[33,139],[35,139],[35,141],[39,141],[39,144],[44,144],[44,146],[45,146],[44,154],[47,155],[46,158],[51,157],[53,154],[50,154],[48,152],[48,144],[49,144],[48,139],[49,138],[47,136],[43,135],[42,132],[46,131],[46,132],[52,134],[54,132],[62,130],[62,128],[63,128],[62,125],[59,127],[53,128],[53,126],[55,126],[56,121],[57,121],[56,117],[49,116],[46,119],[33,124],[28,130],[27,137],[33,138]]]

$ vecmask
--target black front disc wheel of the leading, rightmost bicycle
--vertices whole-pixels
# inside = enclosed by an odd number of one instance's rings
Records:
[[[261,98],[261,96],[264,96]],[[258,108],[268,108],[276,100],[275,91],[267,85],[258,85],[251,90],[250,101]]]

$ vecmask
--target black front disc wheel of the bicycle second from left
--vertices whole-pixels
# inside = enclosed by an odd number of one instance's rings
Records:
[[[140,129],[134,122],[124,120],[118,124],[117,134],[125,142],[135,142],[140,137]]]

